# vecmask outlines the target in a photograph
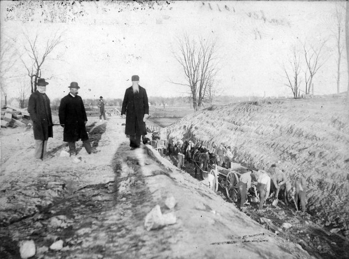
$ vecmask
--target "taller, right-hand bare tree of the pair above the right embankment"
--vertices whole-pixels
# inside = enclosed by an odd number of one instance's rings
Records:
[[[323,47],[325,46],[326,41],[322,42],[318,47],[314,47],[313,45],[310,45],[310,47],[307,47],[306,44],[303,44],[303,50],[304,50],[304,57],[306,66],[309,71],[309,84],[308,89],[306,90],[305,94],[310,94],[310,86],[312,83],[312,80],[316,74],[316,72],[325,64],[327,59],[321,59],[323,50]]]

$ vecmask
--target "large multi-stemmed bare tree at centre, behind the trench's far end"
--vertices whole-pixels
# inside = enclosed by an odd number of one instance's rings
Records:
[[[214,64],[216,41],[202,38],[198,41],[190,40],[188,35],[185,35],[183,40],[178,39],[178,46],[180,54],[175,54],[175,58],[184,69],[187,84],[171,83],[189,88],[193,108],[198,111],[216,70]]]

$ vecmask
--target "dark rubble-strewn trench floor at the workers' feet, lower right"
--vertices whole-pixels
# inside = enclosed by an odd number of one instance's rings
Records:
[[[169,158],[167,156],[166,158],[171,160],[173,164],[177,164],[177,161],[172,157]],[[194,164],[186,161],[183,170],[195,177]],[[197,174],[198,181],[199,177],[200,173]],[[222,178],[219,178],[219,182],[221,181]],[[225,201],[233,203],[236,207],[240,207],[240,200],[238,202],[232,202],[228,199],[226,190],[222,187],[221,183],[219,184],[217,195]],[[259,211],[258,203],[251,201],[253,196],[254,193],[250,189],[248,194],[250,205],[243,208],[242,211],[263,225],[263,227],[286,240],[300,244],[309,254],[317,258],[334,259],[349,257],[349,251],[347,249],[349,240],[338,233],[331,233],[330,228],[321,228],[316,223],[316,216],[313,216],[311,212],[297,212],[294,204],[286,205],[283,200],[279,201],[277,207],[272,206],[269,200],[267,207]],[[291,223],[292,227],[288,229],[282,228],[281,225],[284,222]]]

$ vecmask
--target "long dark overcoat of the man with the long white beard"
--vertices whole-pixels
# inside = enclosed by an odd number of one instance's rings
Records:
[[[132,86],[127,88],[122,102],[121,114],[126,114],[126,135],[146,135],[144,114],[149,114],[148,96],[143,87],[133,94]]]

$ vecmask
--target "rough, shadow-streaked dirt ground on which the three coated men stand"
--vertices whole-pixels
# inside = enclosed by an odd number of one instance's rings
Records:
[[[1,258],[18,258],[25,239],[34,240],[36,258],[311,257],[149,146],[130,151],[119,117],[90,121],[99,152],[81,149],[80,163],[59,157],[66,148],[61,128],[55,128],[43,162],[33,161],[32,132],[2,129]],[[168,212],[169,194],[178,202],[172,209],[176,224],[146,231],[145,215],[156,204]],[[57,240],[63,248],[49,249]]]

